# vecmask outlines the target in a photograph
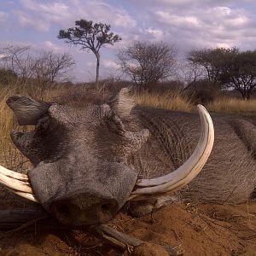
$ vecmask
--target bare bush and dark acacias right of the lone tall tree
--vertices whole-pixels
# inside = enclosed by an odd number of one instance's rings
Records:
[[[176,75],[184,90],[214,95],[236,90],[250,99],[256,86],[256,50],[237,48],[193,49],[178,63],[173,45],[135,42],[117,54],[122,71],[139,86]]]

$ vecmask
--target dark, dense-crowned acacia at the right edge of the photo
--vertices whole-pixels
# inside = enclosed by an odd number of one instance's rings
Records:
[[[249,99],[256,87],[256,50],[234,48],[196,49],[187,56],[193,65],[207,72],[207,80],[222,89],[235,89]]]

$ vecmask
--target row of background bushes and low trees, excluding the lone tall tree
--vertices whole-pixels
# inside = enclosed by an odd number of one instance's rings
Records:
[[[72,79],[75,65],[67,53],[32,53],[29,46],[0,49],[0,85],[34,84],[42,88]],[[139,90],[187,91],[197,102],[211,102],[221,93],[236,91],[248,100],[256,90],[256,50],[193,49],[183,61],[173,44],[133,42],[116,53],[125,79]],[[112,80],[112,83],[114,83]],[[127,81],[115,83],[117,86]]]

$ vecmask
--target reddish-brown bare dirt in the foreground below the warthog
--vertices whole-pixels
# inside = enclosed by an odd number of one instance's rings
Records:
[[[120,213],[113,225],[143,241],[183,248],[184,255],[256,255],[256,202],[239,206],[175,204],[154,212],[153,217],[131,218]],[[40,224],[0,236],[0,255],[124,253],[82,231],[50,229]],[[157,247],[148,248],[137,248],[132,255],[165,255]]]

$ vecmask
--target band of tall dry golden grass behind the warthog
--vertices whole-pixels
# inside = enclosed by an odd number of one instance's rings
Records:
[[[31,129],[29,126],[21,127],[17,124],[12,111],[6,105],[6,100],[9,96],[20,94],[31,96],[38,100],[53,101],[56,97],[67,96],[72,93],[90,94],[93,90],[106,93],[117,91],[121,87],[131,86],[131,84],[127,82],[113,82],[112,80],[102,81],[97,87],[95,84],[55,83],[45,86],[45,84],[34,83],[36,83],[36,81],[31,80],[30,83],[20,86],[18,85],[19,82],[8,84],[8,86],[0,86],[0,139],[1,149],[4,154],[11,152],[15,148],[9,137],[11,130]],[[166,86],[163,90],[136,90],[136,86],[131,86],[131,88],[134,88],[133,94],[137,104],[154,108],[191,112],[195,111],[195,105],[197,103],[201,103],[201,100],[196,98],[195,94],[193,95],[193,93],[177,87],[174,90],[172,87],[170,90],[166,90]],[[204,103],[204,105],[213,113],[238,114],[256,120],[256,99],[244,101],[234,96],[223,95],[218,96],[210,102]],[[15,152],[15,154],[17,154],[17,152]],[[15,158],[15,156],[12,155],[11,158]]]

